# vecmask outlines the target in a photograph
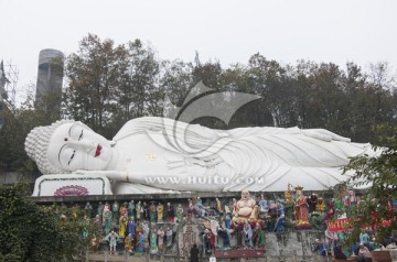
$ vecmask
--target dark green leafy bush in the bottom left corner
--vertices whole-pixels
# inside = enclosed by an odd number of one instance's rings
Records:
[[[0,187],[0,261],[71,261],[98,236],[98,228],[82,216],[75,219],[69,208],[40,207],[29,195],[23,184]],[[79,240],[84,229],[88,236]]]

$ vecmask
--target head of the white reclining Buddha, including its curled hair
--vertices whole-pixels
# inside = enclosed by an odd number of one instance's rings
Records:
[[[73,120],[34,128],[25,140],[28,155],[44,175],[106,170],[111,159],[110,148],[110,141]]]

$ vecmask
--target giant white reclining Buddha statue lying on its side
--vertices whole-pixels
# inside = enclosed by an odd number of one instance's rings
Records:
[[[374,154],[323,129],[214,130],[157,117],[128,121],[111,141],[61,120],[33,129],[25,151],[43,175],[101,175],[114,194],[322,190],[347,178],[350,157]]]

